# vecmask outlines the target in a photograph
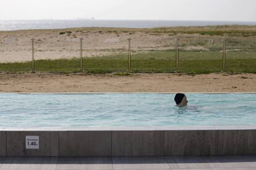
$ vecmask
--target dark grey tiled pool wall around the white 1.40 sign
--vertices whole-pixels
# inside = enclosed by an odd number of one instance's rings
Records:
[[[39,136],[39,149],[25,136]],[[256,155],[256,128],[0,129],[0,156],[179,155]]]

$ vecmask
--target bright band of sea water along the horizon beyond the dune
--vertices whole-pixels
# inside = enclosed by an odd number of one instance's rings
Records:
[[[80,27],[159,28],[168,26],[256,25],[256,22],[186,20],[0,20],[0,31]]]

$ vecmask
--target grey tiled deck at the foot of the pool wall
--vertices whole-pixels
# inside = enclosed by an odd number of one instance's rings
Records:
[[[256,169],[256,155],[132,157],[0,157],[0,170]]]

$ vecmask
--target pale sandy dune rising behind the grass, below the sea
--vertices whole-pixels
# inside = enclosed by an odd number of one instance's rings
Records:
[[[241,43],[252,41],[250,43],[253,45],[254,36],[244,37],[241,34],[245,30],[254,33],[255,29],[255,26],[222,26],[220,28],[206,26],[0,31],[0,63],[32,60],[32,38],[35,39],[35,60],[72,59],[80,56],[80,38],[83,38],[83,57],[127,54],[128,38],[132,38],[133,54],[174,49],[176,38],[181,39],[181,48],[187,51],[209,51],[209,42],[215,44],[214,47],[221,51],[223,35],[211,35],[207,31],[220,31],[220,33],[227,31],[230,34],[235,31],[238,34],[236,41]],[[234,38],[234,36],[231,37]]]

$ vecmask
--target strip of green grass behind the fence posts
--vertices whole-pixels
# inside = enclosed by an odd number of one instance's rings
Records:
[[[148,51],[134,54],[131,58],[133,72],[166,73],[175,71],[175,51]],[[0,71],[30,71],[31,62],[0,63]],[[80,60],[36,60],[36,71],[76,72]],[[222,70],[220,51],[181,51],[179,71],[182,73],[216,73]],[[118,73],[127,76],[127,55],[110,55],[83,59],[83,71],[87,73]],[[256,73],[256,52],[227,52],[226,71],[234,73]]]

